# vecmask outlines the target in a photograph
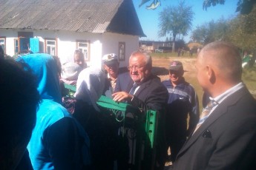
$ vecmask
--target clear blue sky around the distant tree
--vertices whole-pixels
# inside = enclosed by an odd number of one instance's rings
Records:
[[[147,37],[140,38],[140,40],[150,41],[165,41],[166,37],[160,38],[158,36],[159,28],[159,13],[167,6],[177,6],[180,0],[160,0],[161,6],[156,10],[147,10],[146,7],[151,4],[150,0],[139,7],[142,0],[133,0],[134,7],[142,26],[142,30]],[[194,19],[192,21],[192,29],[195,30],[197,26],[205,24],[211,20],[217,21],[220,18],[234,18],[238,13],[235,12],[237,8],[237,0],[226,0],[225,4],[217,4],[214,7],[209,7],[203,10],[203,0],[185,0],[186,5],[191,6],[194,12]],[[191,31],[187,36],[184,36],[184,41],[190,40]],[[168,35],[168,38],[170,35]]]

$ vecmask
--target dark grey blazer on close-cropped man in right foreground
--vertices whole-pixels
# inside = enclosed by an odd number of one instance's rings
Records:
[[[188,138],[174,169],[256,169],[256,101],[246,87],[220,103]]]

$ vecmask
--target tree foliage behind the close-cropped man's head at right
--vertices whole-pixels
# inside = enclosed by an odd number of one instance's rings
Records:
[[[236,18],[209,21],[192,31],[194,42],[208,44],[212,41],[230,41],[241,50],[256,50],[256,6],[247,15]]]

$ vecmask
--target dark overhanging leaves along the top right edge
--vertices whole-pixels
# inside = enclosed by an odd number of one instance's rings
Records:
[[[207,10],[208,7],[215,6],[216,4],[225,4],[225,1],[226,0],[204,0],[203,9]],[[249,14],[251,13],[254,4],[256,4],[255,0],[238,0],[236,12],[240,12],[241,14]]]

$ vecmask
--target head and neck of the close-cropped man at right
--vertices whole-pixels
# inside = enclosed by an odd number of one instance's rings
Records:
[[[241,82],[242,61],[232,44],[207,44],[198,54],[196,67],[200,86],[213,98]]]

